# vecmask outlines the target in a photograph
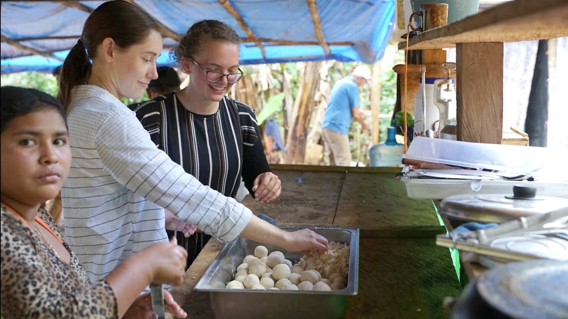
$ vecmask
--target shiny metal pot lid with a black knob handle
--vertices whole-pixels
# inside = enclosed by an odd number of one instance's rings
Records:
[[[458,220],[503,223],[565,207],[568,199],[537,196],[536,187],[516,185],[513,194],[449,196],[442,200],[439,212]]]

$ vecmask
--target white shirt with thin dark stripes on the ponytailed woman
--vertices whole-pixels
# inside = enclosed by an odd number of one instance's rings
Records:
[[[252,216],[248,208],[185,173],[108,91],[80,85],[73,94],[73,159],[61,195],[67,242],[91,282],[168,240],[162,207],[221,241],[239,236]]]

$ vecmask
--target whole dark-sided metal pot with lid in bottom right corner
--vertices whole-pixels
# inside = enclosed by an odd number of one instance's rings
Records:
[[[452,319],[539,318],[568,315],[568,263],[538,259],[484,272],[452,306]]]

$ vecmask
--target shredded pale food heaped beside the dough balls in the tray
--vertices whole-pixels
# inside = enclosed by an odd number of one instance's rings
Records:
[[[323,254],[316,254],[315,250],[310,251],[310,257],[302,257],[298,265],[304,270],[316,270],[322,278],[329,278],[335,272],[339,272],[347,278],[349,271],[349,245],[339,242],[329,242],[328,251]]]

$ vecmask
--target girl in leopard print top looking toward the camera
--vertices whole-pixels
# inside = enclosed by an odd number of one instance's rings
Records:
[[[71,152],[64,110],[51,95],[3,86],[1,96],[1,318],[151,318],[149,283],[179,285],[187,253],[173,242],[149,246],[89,283],[40,203],[55,197]],[[178,317],[186,313],[164,292]]]

